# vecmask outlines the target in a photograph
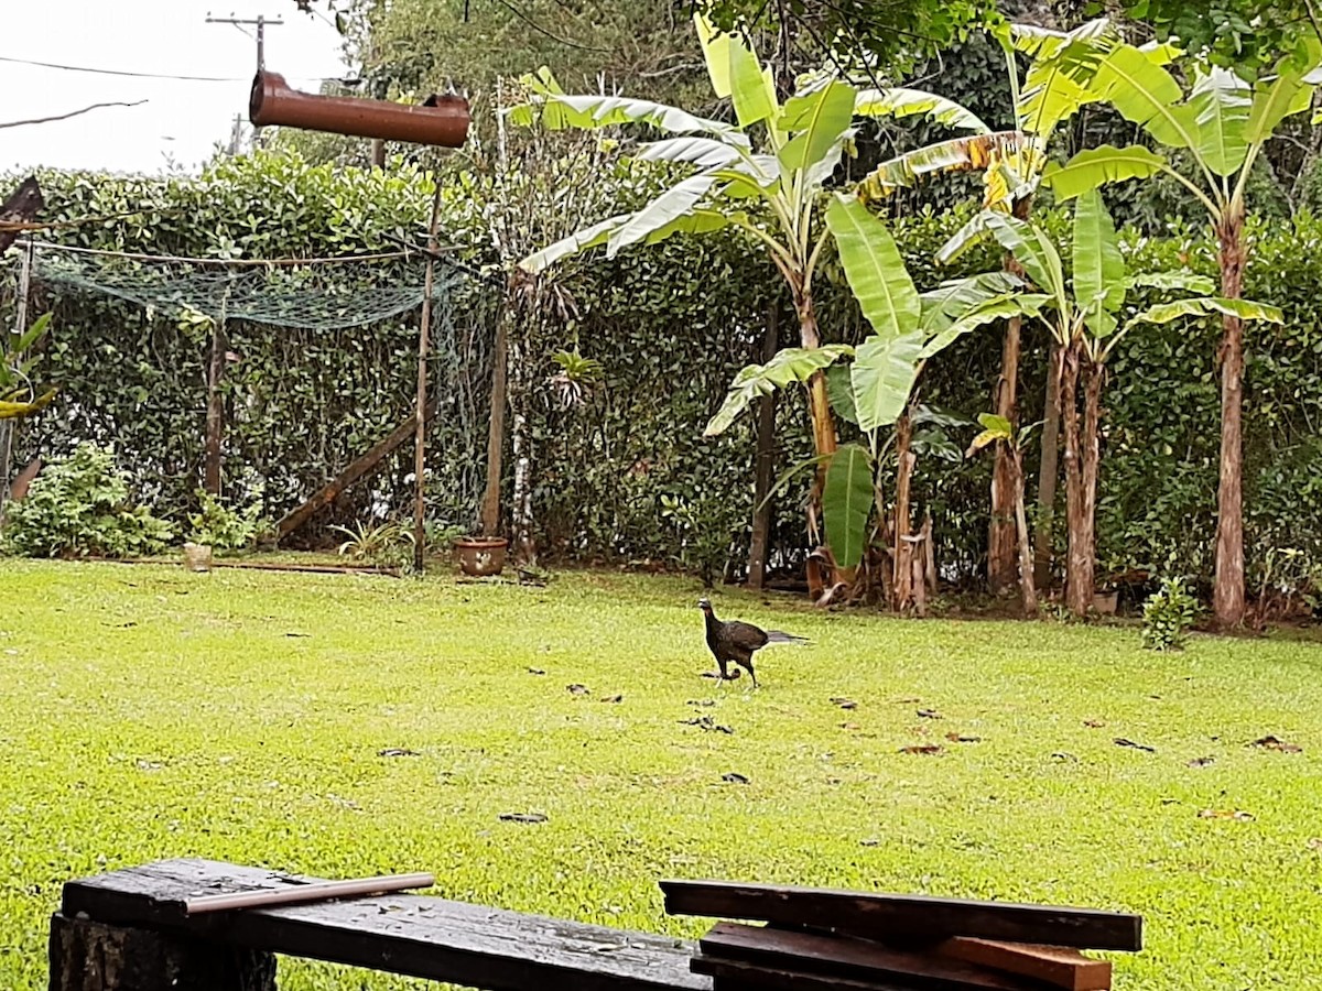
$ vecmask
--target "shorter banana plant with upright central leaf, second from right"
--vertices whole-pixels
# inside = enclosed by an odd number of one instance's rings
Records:
[[[1042,291],[1043,320],[1055,340],[1066,435],[1068,558],[1066,601],[1077,614],[1092,606],[1096,569],[1096,502],[1100,460],[1101,390],[1107,362],[1134,328],[1181,317],[1232,316],[1281,322],[1276,307],[1211,295],[1207,276],[1188,272],[1129,274],[1116,226],[1096,189],[1077,197],[1073,218],[1073,274],[1066,280],[1060,252],[1038,226],[992,214],[988,230],[1010,251]],[[1121,322],[1125,299],[1138,285],[1198,295],[1158,303]]]

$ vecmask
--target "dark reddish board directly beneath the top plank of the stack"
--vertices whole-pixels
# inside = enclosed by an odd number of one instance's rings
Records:
[[[769,969],[825,978],[880,982],[932,991],[1025,991],[1040,988],[1022,978],[998,974],[932,953],[895,950],[849,936],[789,933],[780,929],[718,922],[698,942],[705,957],[744,961]]]

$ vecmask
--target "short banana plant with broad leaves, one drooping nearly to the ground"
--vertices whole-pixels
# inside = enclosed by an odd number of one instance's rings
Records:
[[[781,351],[765,365],[750,365],[735,378],[706,433],[720,433],[759,395],[802,382],[834,369],[829,395],[836,411],[855,423],[862,440],[816,459],[825,473],[822,515],[828,547],[843,569],[853,571],[871,543],[869,534],[878,498],[882,461],[879,431],[900,423],[925,362],[977,328],[1015,313],[1036,313],[1040,293],[1023,291],[1022,280],[988,272],[920,293],[886,225],[858,196],[837,193],[826,207],[826,227],[839,252],[841,267],[871,326],[857,348],[826,345]],[[847,362],[847,363],[846,363]],[[900,436],[910,436],[902,423]],[[898,492],[907,490],[907,443],[900,444]],[[895,584],[908,575],[904,562],[910,521],[903,498],[898,506],[894,556]],[[904,601],[896,605],[903,608]]]

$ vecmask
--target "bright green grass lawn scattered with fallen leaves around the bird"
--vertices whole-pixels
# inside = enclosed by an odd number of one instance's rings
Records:
[[[816,641],[764,651],[752,692],[698,677],[698,593],[4,562],[0,987],[45,987],[66,879],[206,856],[426,869],[448,897],[685,936],[703,922],[662,914],[660,877],[1114,908],[1146,918],[1125,991],[1322,988],[1322,646],[1162,655],[1133,629],[717,589]],[[1303,752],[1245,745],[1268,733]],[[527,811],[549,821],[498,818]]]

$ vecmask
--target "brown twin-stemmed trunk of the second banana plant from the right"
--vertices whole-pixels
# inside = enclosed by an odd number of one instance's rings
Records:
[[[1079,387],[1083,386],[1083,416]],[[1066,562],[1066,605],[1083,617],[1096,593],[1096,510],[1101,369],[1083,349],[1071,345],[1062,371],[1060,406],[1066,427],[1066,525],[1069,552]]]

